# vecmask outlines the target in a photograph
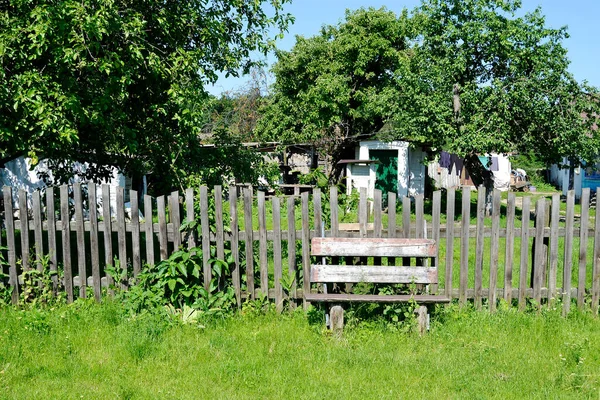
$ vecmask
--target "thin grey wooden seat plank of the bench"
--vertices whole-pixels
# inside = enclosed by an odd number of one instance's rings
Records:
[[[307,293],[304,298],[308,301],[326,303],[404,303],[415,301],[417,304],[448,303],[450,298],[436,295],[369,295],[347,293]]]

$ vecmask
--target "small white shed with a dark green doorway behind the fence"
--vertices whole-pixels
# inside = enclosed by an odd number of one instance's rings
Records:
[[[346,165],[346,187],[367,188],[373,197],[375,189],[398,196],[413,196],[425,192],[425,152],[411,147],[409,142],[365,140],[359,142],[352,160],[342,160]]]

